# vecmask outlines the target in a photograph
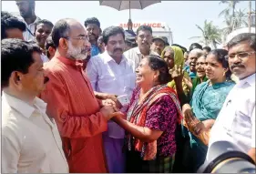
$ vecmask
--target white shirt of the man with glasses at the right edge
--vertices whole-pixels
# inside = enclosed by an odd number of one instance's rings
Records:
[[[209,149],[212,143],[221,140],[237,145],[244,153],[255,148],[255,74],[230,90],[211,128]]]

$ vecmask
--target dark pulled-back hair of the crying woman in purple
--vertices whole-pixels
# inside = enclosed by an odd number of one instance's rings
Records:
[[[169,75],[167,63],[160,56],[149,55],[146,57],[148,58],[148,66],[154,71],[159,70],[159,84],[169,83],[171,76]]]

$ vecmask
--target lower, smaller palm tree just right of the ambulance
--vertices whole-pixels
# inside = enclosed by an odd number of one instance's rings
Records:
[[[193,36],[190,38],[200,38],[200,42],[205,46],[209,46],[211,44],[214,48],[217,48],[217,44],[220,44],[221,42],[220,29],[218,26],[214,26],[212,21],[207,22],[207,20],[204,21],[203,27],[198,25],[196,26],[200,29],[202,36]]]

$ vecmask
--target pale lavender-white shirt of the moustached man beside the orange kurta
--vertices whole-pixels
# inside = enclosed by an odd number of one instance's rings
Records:
[[[123,56],[120,64],[108,55],[108,51],[94,56],[87,64],[87,76],[93,89],[115,95],[131,97],[135,87],[134,64]]]

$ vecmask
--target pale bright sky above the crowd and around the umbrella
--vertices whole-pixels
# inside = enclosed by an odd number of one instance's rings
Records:
[[[195,26],[203,26],[204,20],[213,21],[223,27],[223,18],[219,18],[220,11],[227,5],[220,5],[220,1],[162,1],[150,5],[143,10],[131,10],[133,23],[136,21],[166,22],[172,33],[173,41],[182,46],[197,40],[191,36],[201,36]],[[252,2],[252,7],[255,2]],[[248,11],[248,2],[241,1],[238,8]],[[15,1],[2,1],[2,10],[18,12]],[[102,28],[128,22],[128,10],[118,11],[108,6],[99,5],[98,1],[36,1],[36,15],[41,19],[48,19],[53,23],[61,18],[75,18],[84,23],[87,17],[96,16]]]

